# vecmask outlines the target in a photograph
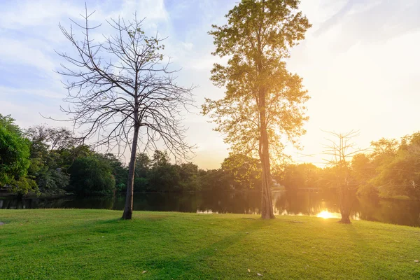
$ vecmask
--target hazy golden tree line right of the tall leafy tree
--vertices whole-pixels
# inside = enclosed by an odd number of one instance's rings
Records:
[[[353,155],[344,168],[347,185],[358,195],[420,200],[420,132],[372,141],[368,151]],[[285,165],[276,179],[288,190],[336,189],[340,183],[337,165],[310,163]]]

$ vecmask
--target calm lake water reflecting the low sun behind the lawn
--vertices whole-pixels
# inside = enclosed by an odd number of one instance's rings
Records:
[[[237,193],[135,193],[134,211],[259,214],[259,192]],[[420,202],[367,200],[354,197],[351,218],[420,227]],[[273,192],[274,214],[339,217],[335,193]],[[123,210],[125,195],[115,197],[64,197],[18,200],[0,198],[0,209],[79,208]]]

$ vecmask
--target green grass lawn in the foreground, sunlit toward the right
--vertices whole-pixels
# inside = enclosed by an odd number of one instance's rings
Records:
[[[307,216],[121,215],[0,210],[0,278],[420,279],[420,228]]]

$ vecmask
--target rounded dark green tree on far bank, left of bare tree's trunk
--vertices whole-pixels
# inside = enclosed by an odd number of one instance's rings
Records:
[[[109,195],[115,190],[111,166],[100,157],[77,158],[69,172],[69,191],[75,195]]]

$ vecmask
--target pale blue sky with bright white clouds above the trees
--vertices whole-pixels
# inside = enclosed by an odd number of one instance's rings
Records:
[[[47,124],[43,118],[64,119],[59,106],[66,97],[55,71],[61,57],[71,52],[59,30],[70,18],[80,20],[85,1],[0,0],[0,113],[10,114],[20,127]],[[209,80],[214,45],[207,31],[225,22],[237,0],[87,0],[95,10],[92,23],[104,23],[95,38],[109,34],[106,21],[134,11],[145,18],[147,34],[168,37],[165,54],[181,69],[181,85],[197,85],[197,109],[188,113],[187,141],[196,144],[193,160],[204,169],[220,167],[228,156],[223,135],[200,115],[204,97],[220,99],[223,88]],[[360,130],[354,140],[360,148],[382,137],[397,138],[420,130],[420,1],[302,0],[300,10],[312,27],[291,51],[288,70],[303,78],[311,99],[307,102],[307,134],[297,151],[286,153],[295,162],[323,166],[328,134],[323,131]],[[327,138],[327,139],[325,139]]]

